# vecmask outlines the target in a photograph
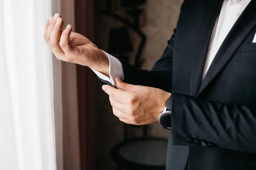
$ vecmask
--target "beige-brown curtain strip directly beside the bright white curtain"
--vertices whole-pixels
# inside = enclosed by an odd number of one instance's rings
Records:
[[[52,0],[52,15],[60,13],[64,27],[75,27],[74,0]],[[53,57],[56,153],[58,170],[80,170],[76,64]]]

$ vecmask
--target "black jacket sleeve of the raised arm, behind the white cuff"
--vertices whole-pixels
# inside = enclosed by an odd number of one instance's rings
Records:
[[[171,39],[168,41],[162,57],[154,64],[151,71],[141,70],[120,60],[124,71],[124,82],[133,85],[160,88],[164,91],[172,92],[172,56],[174,42],[175,34],[172,35]],[[111,85],[111,83],[100,78],[99,81],[102,85]]]

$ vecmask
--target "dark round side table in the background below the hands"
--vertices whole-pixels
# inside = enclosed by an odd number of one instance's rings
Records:
[[[167,139],[128,139],[113,147],[111,157],[119,170],[165,170]]]

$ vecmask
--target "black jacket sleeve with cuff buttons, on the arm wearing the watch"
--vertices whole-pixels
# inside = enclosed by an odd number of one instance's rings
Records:
[[[172,143],[256,153],[256,108],[174,94]]]

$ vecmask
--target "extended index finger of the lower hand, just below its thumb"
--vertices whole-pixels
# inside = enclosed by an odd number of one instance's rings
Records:
[[[127,99],[129,99],[130,94],[126,91],[122,91],[120,89],[116,89],[110,85],[103,85],[102,89],[107,93],[112,99],[125,103]]]

